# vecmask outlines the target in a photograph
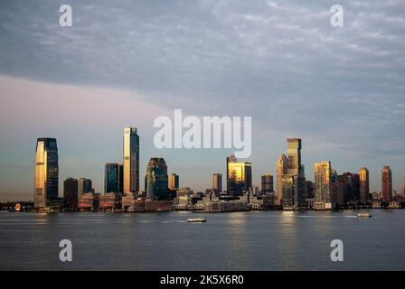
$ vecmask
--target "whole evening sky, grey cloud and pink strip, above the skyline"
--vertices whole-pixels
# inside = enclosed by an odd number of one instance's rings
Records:
[[[59,7],[72,7],[72,27]],[[344,26],[330,24],[332,5]],[[381,190],[405,173],[405,1],[22,1],[0,3],[0,200],[33,199],[38,137],[56,137],[67,177],[103,191],[122,162],[124,126],[140,135],[141,188],[150,157],[182,186],[225,175],[230,149],[163,149],[155,117],[252,117],[253,182],[276,173],[288,137],[303,140],[306,177],[330,160],[370,170]],[[225,182],[223,182],[225,185]]]

